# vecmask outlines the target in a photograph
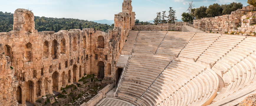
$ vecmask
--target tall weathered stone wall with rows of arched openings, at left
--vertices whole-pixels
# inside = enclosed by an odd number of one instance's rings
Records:
[[[17,9],[13,31],[0,33],[0,105],[35,103],[85,74],[95,74],[103,83],[117,82],[115,63],[135,22],[131,2],[124,0],[108,34],[94,29],[37,32],[33,13]]]

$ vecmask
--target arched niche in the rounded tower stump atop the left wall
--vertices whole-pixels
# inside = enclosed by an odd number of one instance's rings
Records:
[[[25,31],[32,32],[32,28],[35,28],[35,26],[33,25],[35,24],[33,23],[34,19],[32,19],[32,16],[30,14],[25,14],[24,19]]]

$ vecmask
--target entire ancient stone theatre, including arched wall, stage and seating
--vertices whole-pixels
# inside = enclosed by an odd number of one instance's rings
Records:
[[[108,33],[38,32],[16,9],[13,31],[0,32],[0,106],[233,106],[256,94],[254,7],[138,25],[131,3]]]

